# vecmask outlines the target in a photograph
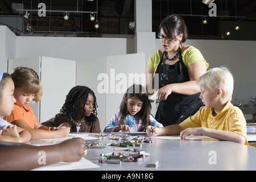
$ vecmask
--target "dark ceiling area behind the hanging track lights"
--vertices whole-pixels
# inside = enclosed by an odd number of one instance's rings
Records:
[[[30,16],[25,20],[22,18],[25,12],[16,11],[16,9],[38,10],[39,3],[45,3],[46,16],[39,17],[38,11],[28,11]],[[213,3],[216,4],[216,17],[209,16],[212,8],[201,0],[152,0],[152,31],[158,32],[159,23],[166,15],[178,14],[183,16],[187,24],[189,39],[256,40],[256,0],[215,0]],[[53,12],[54,10],[61,12]],[[94,28],[89,13],[73,12],[70,13],[68,20],[64,20],[62,11],[97,11],[100,27]],[[135,21],[134,0],[2,0],[0,12],[0,23],[9,26],[16,35],[99,37],[133,37],[134,35],[134,30],[129,28],[129,22]],[[207,24],[202,23],[204,16],[208,19]],[[6,21],[5,18],[8,20]],[[23,21],[23,26],[15,26],[11,21]],[[234,30],[237,22],[240,26],[238,31]],[[31,25],[33,34],[28,33],[27,24]],[[226,36],[228,30],[230,35]]]

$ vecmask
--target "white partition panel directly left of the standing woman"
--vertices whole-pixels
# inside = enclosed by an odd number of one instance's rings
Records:
[[[106,125],[119,109],[126,89],[134,83],[144,85],[144,71],[144,53],[106,57],[106,75],[109,78],[109,89],[106,90]]]

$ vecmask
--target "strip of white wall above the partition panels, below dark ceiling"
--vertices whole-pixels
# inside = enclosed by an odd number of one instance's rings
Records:
[[[68,60],[123,55],[133,41],[125,38],[71,38],[17,36],[16,57],[47,56]]]

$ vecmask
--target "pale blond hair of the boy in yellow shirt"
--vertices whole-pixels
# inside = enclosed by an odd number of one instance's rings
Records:
[[[211,90],[222,89],[224,98],[232,100],[234,78],[226,67],[212,68],[199,77],[197,84],[207,86]]]

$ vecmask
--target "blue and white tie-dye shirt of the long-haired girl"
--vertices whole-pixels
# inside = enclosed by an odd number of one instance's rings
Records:
[[[105,127],[104,132],[113,132],[115,128],[118,125],[120,119],[122,117],[122,114],[120,110],[118,110],[113,117],[110,119],[108,125]],[[121,125],[128,125],[130,127],[131,132],[137,132],[141,131],[142,127],[142,121],[141,119],[137,119],[134,115],[127,115],[125,118],[125,121],[121,123]],[[163,125],[159,122],[157,122],[152,115],[150,115],[150,126],[155,126],[155,127],[163,127]]]

